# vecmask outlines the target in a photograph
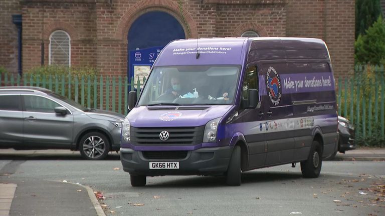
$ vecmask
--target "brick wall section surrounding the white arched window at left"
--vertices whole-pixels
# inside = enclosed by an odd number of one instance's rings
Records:
[[[65,30],[71,38],[71,65],[96,66],[96,13],[93,2],[58,0],[23,2],[23,70],[41,64],[41,42],[45,64],[49,60],[49,37]]]

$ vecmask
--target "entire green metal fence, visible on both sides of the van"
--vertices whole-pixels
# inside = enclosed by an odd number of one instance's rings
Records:
[[[134,83],[131,79],[130,83]],[[126,76],[40,76],[0,74],[0,85],[28,85],[51,89],[84,106],[127,113],[130,85]],[[384,67],[357,65],[353,74],[335,80],[338,114],[355,126],[358,143],[385,145]],[[139,94],[139,91],[137,92]]]

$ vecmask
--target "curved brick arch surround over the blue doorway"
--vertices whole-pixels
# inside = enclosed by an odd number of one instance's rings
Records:
[[[174,0],[143,0],[129,7],[124,11],[123,15],[120,17],[118,25],[115,31],[115,39],[117,40],[127,40],[128,30],[130,29],[131,24],[135,19],[148,11],[160,10],[167,12],[174,16],[181,26],[184,29],[184,34],[186,38],[197,38],[198,37],[198,28],[197,24],[194,21],[193,17],[185,10],[182,10],[184,20],[187,22],[190,34],[186,31],[187,26],[181,21],[179,4]]]

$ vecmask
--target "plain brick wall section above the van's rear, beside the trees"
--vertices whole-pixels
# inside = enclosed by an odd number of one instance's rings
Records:
[[[287,36],[316,37],[328,45],[334,75],[354,66],[354,0],[289,0]]]

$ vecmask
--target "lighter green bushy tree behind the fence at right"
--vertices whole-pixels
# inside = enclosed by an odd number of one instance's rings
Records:
[[[381,16],[355,41],[357,63],[385,64],[385,22]]]

